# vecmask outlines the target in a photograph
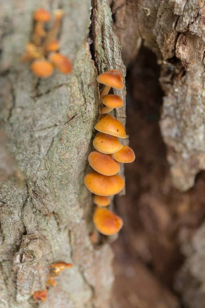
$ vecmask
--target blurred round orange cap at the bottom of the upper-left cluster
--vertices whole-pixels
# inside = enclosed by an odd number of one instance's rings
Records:
[[[30,66],[34,75],[40,78],[49,77],[53,73],[53,66],[46,60],[35,60]]]

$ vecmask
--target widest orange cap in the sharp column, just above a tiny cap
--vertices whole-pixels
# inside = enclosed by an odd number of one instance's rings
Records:
[[[104,176],[98,172],[91,172],[84,178],[86,187],[99,196],[112,196],[118,194],[124,186],[125,182],[119,175]]]

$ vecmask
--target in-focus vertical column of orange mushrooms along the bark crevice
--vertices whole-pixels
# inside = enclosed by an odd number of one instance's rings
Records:
[[[118,175],[120,163],[131,163],[135,160],[133,150],[122,145],[119,138],[125,139],[125,127],[111,114],[114,108],[123,105],[122,99],[109,94],[110,89],[124,89],[123,78],[117,70],[109,70],[98,76],[97,81],[105,85],[100,93],[101,117],[95,125],[98,131],[93,140],[95,151],[91,152],[88,161],[94,169],[85,176],[86,187],[94,194],[93,202],[97,207],[93,215],[96,229],[104,235],[113,235],[122,227],[122,219],[105,208],[111,203],[110,196],[118,194],[124,186],[124,179]]]

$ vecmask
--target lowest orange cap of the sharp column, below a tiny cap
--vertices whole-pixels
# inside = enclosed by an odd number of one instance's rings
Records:
[[[107,208],[97,207],[93,215],[96,229],[104,235],[113,235],[121,229],[122,219]]]

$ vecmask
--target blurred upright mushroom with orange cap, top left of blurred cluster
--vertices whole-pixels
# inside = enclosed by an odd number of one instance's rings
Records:
[[[44,23],[50,21],[51,15],[45,9],[37,9],[33,13],[33,19],[36,23],[34,26],[34,33],[32,35],[32,42],[35,45],[40,45],[42,37],[46,36],[46,31],[44,30]]]

